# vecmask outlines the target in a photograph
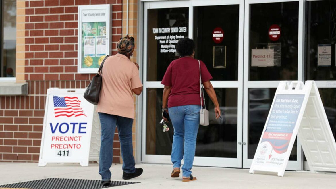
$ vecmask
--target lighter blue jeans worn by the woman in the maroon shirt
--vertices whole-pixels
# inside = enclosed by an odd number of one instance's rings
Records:
[[[169,116],[174,127],[171,161],[173,168],[182,166],[183,177],[190,177],[193,167],[196,138],[200,125],[200,109],[198,105],[175,106],[169,108]]]

